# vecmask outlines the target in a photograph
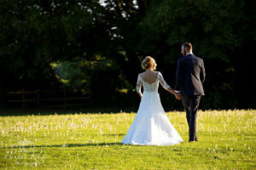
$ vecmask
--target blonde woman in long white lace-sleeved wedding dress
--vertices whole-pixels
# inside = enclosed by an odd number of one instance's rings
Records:
[[[156,63],[152,57],[148,56],[143,59],[142,66],[146,71],[137,77],[137,94],[142,98],[141,103],[130,129],[121,143],[171,145],[183,142],[160,103],[159,82],[177,99],[180,99],[181,96],[166,84],[159,71],[154,71]],[[141,93],[142,86],[143,94]]]

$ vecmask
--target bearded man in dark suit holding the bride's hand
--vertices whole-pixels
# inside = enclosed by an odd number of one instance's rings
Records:
[[[192,44],[185,42],[182,45],[182,58],[177,60],[176,86],[177,93],[182,94],[183,107],[186,111],[189,124],[189,142],[197,141],[196,137],[196,112],[201,95],[204,94],[202,83],[206,73],[203,59],[192,53]]]

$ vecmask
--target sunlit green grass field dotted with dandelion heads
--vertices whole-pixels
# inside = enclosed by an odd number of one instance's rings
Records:
[[[0,169],[256,169],[256,111],[199,111],[196,143],[185,113],[167,112],[184,143],[119,144],[135,116],[1,116]]]

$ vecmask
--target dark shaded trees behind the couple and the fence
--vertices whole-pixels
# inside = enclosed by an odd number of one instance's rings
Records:
[[[141,61],[154,57],[171,87],[183,42],[204,59],[202,109],[255,108],[249,1],[1,0],[0,94],[66,87],[91,106],[138,105]],[[160,88],[166,108],[180,103]]]

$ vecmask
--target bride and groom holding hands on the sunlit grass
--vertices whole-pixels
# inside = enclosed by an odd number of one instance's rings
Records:
[[[137,77],[137,94],[142,99],[137,115],[121,141],[122,144],[171,145],[183,142],[160,103],[159,82],[176,99],[182,100],[189,124],[189,142],[197,141],[196,112],[201,95],[204,95],[204,63],[192,53],[189,42],[183,43],[181,53],[183,57],[177,61],[175,90],[165,82],[159,71],[154,71],[156,63],[153,58],[148,56],[143,59],[142,66],[145,71]]]

